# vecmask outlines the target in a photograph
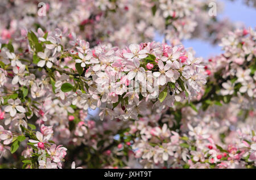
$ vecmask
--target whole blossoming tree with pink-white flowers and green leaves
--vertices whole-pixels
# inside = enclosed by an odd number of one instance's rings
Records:
[[[255,168],[256,31],[209,2],[1,1],[0,168]]]

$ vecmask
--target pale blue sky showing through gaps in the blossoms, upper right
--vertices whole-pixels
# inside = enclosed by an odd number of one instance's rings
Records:
[[[242,2],[243,0],[234,2],[229,0],[219,1],[224,3],[224,11],[218,14],[217,10],[218,19],[228,17],[232,22],[242,22],[246,27],[256,27],[256,8],[246,6]],[[156,40],[162,41],[162,37],[156,37]],[[221,48],[218,45],[213,46],[201,40],[185,40],[183,45],[185,48],[192,47],[196,51],[197,57],[208,58],[210,55],[221,53]]]

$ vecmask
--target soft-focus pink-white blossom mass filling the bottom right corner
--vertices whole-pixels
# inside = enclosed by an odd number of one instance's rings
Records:
[[[254,167],[255,109],[246,117],[240,112],[242,105],[232,101],[207,111],[185,107],[181,119],[159,110],[157,115],[144,115],[130,125],[134,157],[141,158],[144,168]],[[178,121],[179,131],[174,131]]]

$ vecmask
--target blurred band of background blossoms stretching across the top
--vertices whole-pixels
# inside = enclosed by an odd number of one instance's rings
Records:
[[[38,6],[35,0],[3,0],[0,3],[1,41],[24,38],[19,36],[19,31],[35,31],[41,27],[46,31],[60,28],[64,34],[76,33],[77,37],[86,38],[92,45],[110,42],[121,48],[131,43],[151,41],[155,32],[164,33],[166,40],[174,44],[192,37],[203,37],[216,43],[235,25],[209,16],[210,2],[65,0],[44,1]],[[219,3],[216,8],[220,13]]]

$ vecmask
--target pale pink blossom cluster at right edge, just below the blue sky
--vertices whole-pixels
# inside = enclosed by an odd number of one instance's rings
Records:
[[[221,84],[221,95],[240,93],[248,98],[255,98],[255,30],[249,28],[230,32],[229,36],[222,38],[220,45],[225,50],[224,54],[209,59],[205,69],[208,74],[221,70],[221,76],[229,79]]]

